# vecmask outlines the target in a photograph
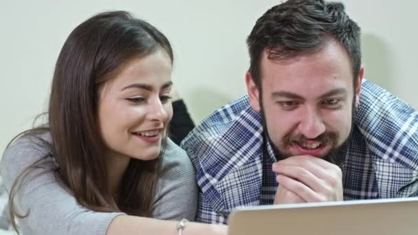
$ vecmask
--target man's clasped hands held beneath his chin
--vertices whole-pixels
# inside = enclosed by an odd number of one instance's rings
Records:
[[[342,201],[341,169],[318,157],[288,157],[273,164],[279,187],[274,203]]]

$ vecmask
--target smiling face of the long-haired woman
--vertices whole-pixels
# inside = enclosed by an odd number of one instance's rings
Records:
[[[172,69],[170,57],[159,49],[130,60],[100,89],[99,128],[110,157],[158,157],[173,116]]]

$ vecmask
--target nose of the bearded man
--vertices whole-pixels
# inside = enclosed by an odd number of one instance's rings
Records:
[[[308,139],[315,139],[325,132],[325,124],[315,108],[307,108],[301,114],[298,131]]]

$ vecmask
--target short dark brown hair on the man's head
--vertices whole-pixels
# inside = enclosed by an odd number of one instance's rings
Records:
[[[289,0],[267,10],[247,38],[250,74],[261,89],[261,56],[284,59],[313,52],[335,38],[347,50],[353,67],[354,86],[362,64],[360,27],[352,21],[342,3],[322,0]]]

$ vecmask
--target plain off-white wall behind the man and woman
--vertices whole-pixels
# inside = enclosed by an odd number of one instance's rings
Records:
[[[363,29],[366,78],[418,108],[417,1],[344,0]],[[399,3],[401,2],[401,3]],[[0,154],[45,111],[54,63],[68,34],[102,10],[129,10],[173,43],[173,80],[196,121],[245,93],[245,38],[278,1],[1,1]],[[415,28],[415,30],[414,30]]]

